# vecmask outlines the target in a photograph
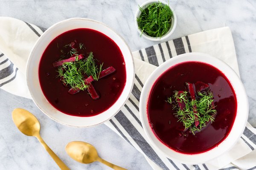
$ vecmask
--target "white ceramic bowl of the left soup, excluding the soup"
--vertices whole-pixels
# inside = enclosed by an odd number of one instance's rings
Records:
[[[125,60],[126,84],[119,99],[103,113],[91,117],[70,116],[55,109],[45,98],[38,79],[38,66],[47,45],[58,35],[76,28],[90,28],[111,38],[119,46]],[[134,61],[125,40],[107,25],[85,18],[71,18],[54,24],[35,43],[26,65],[26,82],[33,101],[47,116],[64,125],[89,127],[111,119],[127,101],[134,84]]]

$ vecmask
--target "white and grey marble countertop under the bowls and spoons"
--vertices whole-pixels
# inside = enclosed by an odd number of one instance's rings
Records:
[[[0,0],[0,16],[15,17],[48,28],[71,17],[99,20],[119,32],[131,51],[154,45],[140,38],[134,24],[138,4],[145,0]],[[177,27],[169,39],[229,26],[235,43],[242,82],[249,98],[249,119],[256,125],[256,1],[255,0],[170,0],[177,14]],[[1,24],[1,23],[0,23]],[[80,164],[67,156],[65,145],[71,141],[93,144],[99,155],[129,170],[151,170],[141,153],[105,125],[90,128],[67,127],[44,115],[30,99],[0,90],[0,169],[58,169],[41,144],[23,135],[12,122],[14,108],[25,108],[41,122],[41,136],[52,150],[70,167],[82,170],[110,170],[95,162]]]

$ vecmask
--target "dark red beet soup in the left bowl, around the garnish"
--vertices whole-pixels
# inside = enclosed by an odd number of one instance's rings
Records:
[[[57,78],[58,69],[52,63],[61,58],[61,47],[74,40],[83,44],[79,54],[84,58],[93,52],[94,59],[103,63],[102,70],[111,66],[116,69],[114,73],[92,82],[99,99],[93,100],[87,90],[71,95],[68,93],[70,88],[65,88]],[[70,30],[52,40],[41,57],[38,74],[44,96],[53,107],[68,115],[82,117],[95,116],[110,108],[121,95],[126,82],[125,61],[119,47],[105,34],[88,28]]]

